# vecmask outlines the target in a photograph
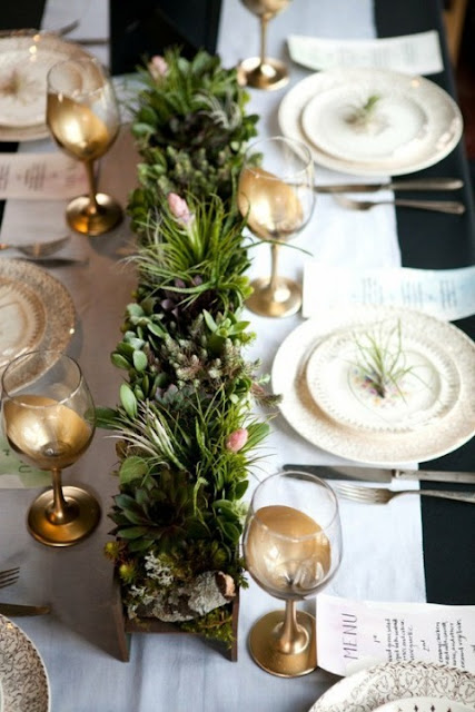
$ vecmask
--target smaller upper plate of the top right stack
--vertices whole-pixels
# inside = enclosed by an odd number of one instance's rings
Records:
[[[385,85],[386,82],[384,82]],[[373,109],[364,107],[377,97]],[[366,116],[359,119],[359,113]],[[400,159],[417,150],[429,119],[424,108],[404,92],[368,82],[336,87],[315,96],[304,107],[301,127],[317,147],[343,160]]]

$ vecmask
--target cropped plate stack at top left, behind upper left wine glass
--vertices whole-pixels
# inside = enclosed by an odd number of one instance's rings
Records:
[[[90,57],[56,34],[24,30],[0,34],[0,140],[28,141],[48,136],[47,75],[67,59]]]

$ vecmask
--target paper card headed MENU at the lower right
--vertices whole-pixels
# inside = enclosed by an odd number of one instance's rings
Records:
[[[475,673],[475,606],[317,597],[318,665],[336,675],[420,661]]]

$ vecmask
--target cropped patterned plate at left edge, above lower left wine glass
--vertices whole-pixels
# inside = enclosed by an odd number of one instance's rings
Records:
[[[2,308],[1,286],[14,300]],[[6,296],[6,295],[3,295]],[[12,299],[10,299],[12,301]],[[28,305],[31,305],[28,312]],[[8,300],[6,300],[8,305]],[[0,258],[0,368],[27,350],[63,350],[75,333],[76,312],[66,287],[44,269],[21,259]],[[22,319],[22,328],[16,319]],[[24,330],[23,330],[24,327]]]

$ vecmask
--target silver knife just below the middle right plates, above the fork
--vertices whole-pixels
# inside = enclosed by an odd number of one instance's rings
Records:
[[[325,479],[360,479],[364,482],[455,482],[475,485],[475,473],[439,469],[392,469],[355,465],[284,465],[284,469],[309,472]]]

